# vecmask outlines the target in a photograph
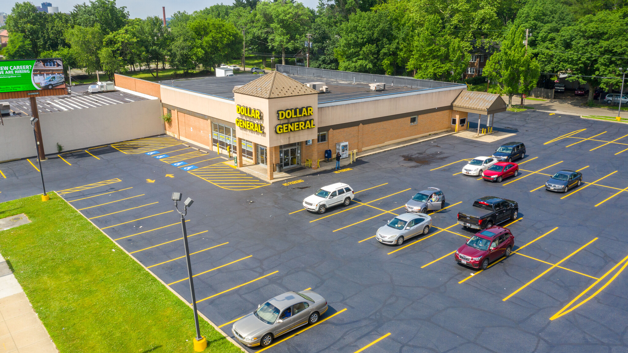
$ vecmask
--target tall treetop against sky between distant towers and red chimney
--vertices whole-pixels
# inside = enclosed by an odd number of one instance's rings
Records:
[[[126,6],[116,7],[116,0],[90,0],[89,5],[74,5],[71,13],[72,23],[82,27],[100,25],[104,34],[115,32],[124,27],[129,19]]]

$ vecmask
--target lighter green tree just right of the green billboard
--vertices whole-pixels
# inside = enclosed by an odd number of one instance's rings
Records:
[[[93,27],[74,26],[65,32],[65,38],[72,46],[73,56],[79,67],[87,73],[102,70],[99,52],[102,49],[102,30],[99,24]]]

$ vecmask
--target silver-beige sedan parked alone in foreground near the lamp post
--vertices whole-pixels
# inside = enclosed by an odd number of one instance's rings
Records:
[[[267,347],[275,337],[318,321],[327,311],[327,300],[311,290],[288,291],[234,323],[231,332],[249,347]]]

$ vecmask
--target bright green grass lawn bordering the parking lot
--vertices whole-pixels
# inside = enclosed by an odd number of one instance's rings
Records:
[[[60,352],[193,352],[192,308],[52,194],[0,204],[0,252]],[[183,248],[183,245],[181,245]],[[200,318],[205,352],[241,352]]]

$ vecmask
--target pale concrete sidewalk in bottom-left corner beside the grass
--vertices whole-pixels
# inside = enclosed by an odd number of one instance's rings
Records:
[[[0,255],[0,352],[58,353],[26,293]]]

